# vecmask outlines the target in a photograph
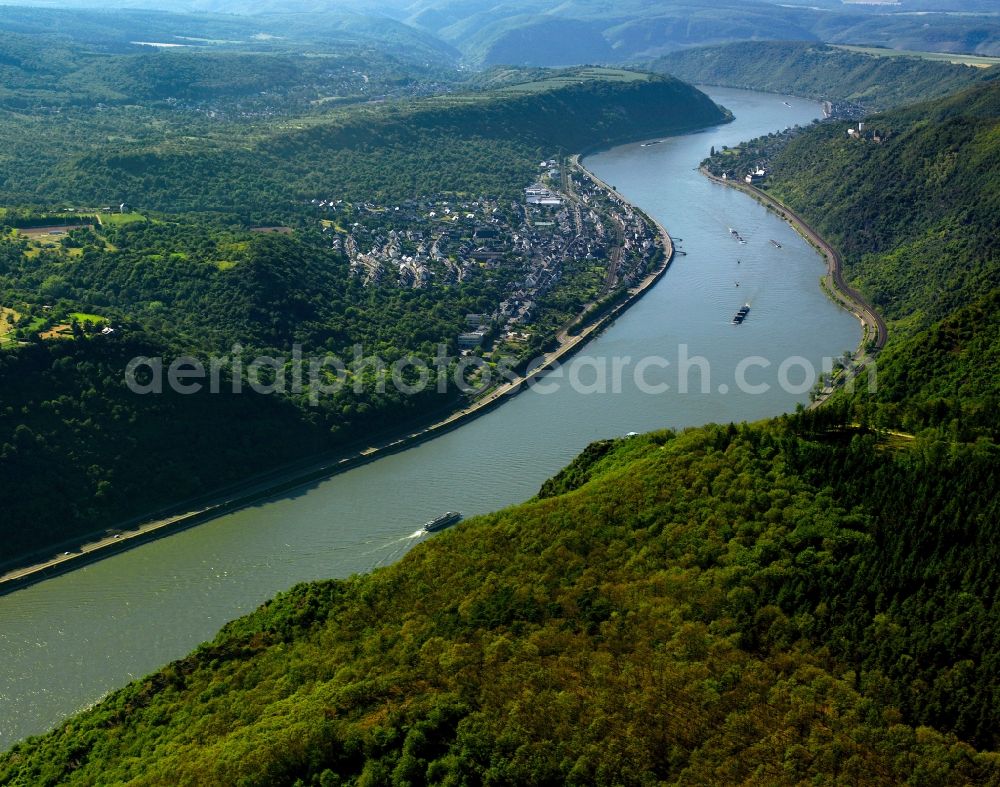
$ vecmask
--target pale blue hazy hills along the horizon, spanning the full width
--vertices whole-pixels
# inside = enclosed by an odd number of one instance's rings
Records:
[[[66,5],[78,7],[90,3],[65,0]],[[1000,55],[1000,17],[990,15],[995,7],[987,0],[941,0],[930,13],[928,0],[914,0],[905,7],[839,0],[808,4],[754,0],[510,0],[502,4],[389,0],[377,6],[367,0],[263,0],[252,5],[245,0],[121,0],[118,5],[226,14],[229,16],[212,17],[213,24],[225,21],[234,33],[264,32],[278,40],[336,41],[350,34],[442,57],[457,51],[476,65],[621,63],[686,47],[748,39]],[[3,15],[9,14],[5,11]],[[188,20],[188,28],[194,24],[192,17],[180,18]],[[135,17],[126,14],[119,21],[128,25]],[[162,17],[163,32],[185,35],[174,31],[177,21]],[[86,20],[83,23],[89,24]],[[10,28],[5,25],[4,29]],[[72,26],[65,32],[77,35]]]

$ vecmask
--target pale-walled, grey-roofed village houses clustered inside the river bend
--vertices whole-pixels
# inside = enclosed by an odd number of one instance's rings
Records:
[[[423,288],[471,276],[499,278],[503,298],[495,310],[470,314],[457,337],[459,348],[471,351],[492,335],[522,339],[568,262],[607,266],[610,290],[640,280],[655,252],[654,229],[617,194],[577,172],[566,193],[556,162],[541,167],[523,202],[440,195],[389,206],[311,204],[327,217],[324,231],[333,247],[366,285]]]

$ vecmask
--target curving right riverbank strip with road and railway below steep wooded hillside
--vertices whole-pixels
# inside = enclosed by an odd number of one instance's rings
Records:
[[[729,178],[720,178],[713,175],[705,167],[700,167],[700,171],[714,183],[742,191],[765,207],[773,210],[823,256],[824,260],[826,260],[826,275],[822,280],[823,290],[840,306],[851,312],[857,318],[858,322],[861,323],[863,331],[861,341],[851,359],[853,376],[858,376],[873,362],[875,354],[885,346],[886,340],[889,337],[889,329],[885,324],[885,320],[868,303],[865,297],[844,280],[843,260],[840,257],[840,253],[813,229],[805,219],[770,194],[761,191],[749,183],[741,183]],[[841,381],[843,381],[843,378]],[[818,407],[833,392],[834,389],[832,388],[824,389],[820,396],[813,401],[812,406]]]

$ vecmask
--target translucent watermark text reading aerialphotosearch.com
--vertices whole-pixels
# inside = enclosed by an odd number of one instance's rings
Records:
[[[311,404],[318,405],[323,397],[345,388],[357,394],[384,393],[390,385],[404,395],[432,389],[446,393],[451,386],[476,395],[497,385],[518,382],[522,379],[518,369],[536,369],[543,363],[541,357],[527,366],[513,357],[495,363],[476,355],[456,357],[448,354],[445,345],[439,345],[431,360],[409,355],[391,363],[365,354],[361,345],[354,347],[349,362],[329,354],[305,356],[299,345],[287,355],[247,359],[243,348],[235,345],[228,356],[207,359],[133,358],[126,367],[125,382],[133,393],[141,395],[168,389],[177,394],[305,394]],[[564,364],[553,361],[544,373],[529,375],[528,385],[541,394],[568,386],[582,395],[620,394],[630,388],[649,395],[726,395],[737,391],[763,395],[775,388],[802,395],[828,385],[836,372],[845,375],[845,386],[852,386],[856,371],[847,353],[840,358],[823,358],[818,368],[802,356],[770,359],[751,355],[726,368],[724,374],[717,372],[713,376],[707,358],[692,354],[687,344],[680,344],[669,357],[576,355]],[[865,372],[866,384],[873,390],[874,364],[866,366]]]

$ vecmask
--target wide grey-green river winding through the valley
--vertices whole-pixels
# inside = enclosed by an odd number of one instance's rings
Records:
[[[683,239],[686,256],[561,378],[545,379],[555,390],[525,392],[415,448],[0,597],[0,749],[185,655],[278,591],[398,559],[425,538],[415,532],[421,523],[443,511],[468,516],[531,497],[593,440],[760,419],[808,402],[799,385],[804,361],[820,369],[823,358],[854,349],[860,326],[823,294],[822,259],[805,241],[697,165],[713,145],[804,125],[820,108],[793,97],[708,92],[735,122],[586,159]],[[744,302],[750,316],[732,325]],[[744,364],[740,385],[737,368],[754,356],[771,365]],[[705,364],[691,360],[682,374],[685,357],[707,363],[708,393]],[[640,386],[634,370],[644,358],[652,360]],[[783,390],[778,369],[795,358],[791,390]],[[624,370],[620,386],[615,359]],[[688,393],[679,390],[684,379]],[[652,392],[663,385],[670,389]],[[761,385],[769,390],[750,392]]]

